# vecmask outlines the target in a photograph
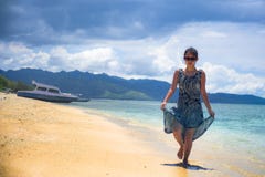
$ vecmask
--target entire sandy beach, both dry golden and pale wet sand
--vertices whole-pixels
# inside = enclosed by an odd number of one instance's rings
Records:
[[[248,158],[231,156],[204,138],[195,140],[192,166],[186,169],[177,159],[172,134],[137,125],[0,93],[0,176],[259,177],[265,167],[263,162],[251,159],[252,165]]]

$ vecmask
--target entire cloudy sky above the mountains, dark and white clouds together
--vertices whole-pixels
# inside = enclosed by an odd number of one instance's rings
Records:
[[[199,51],[209,92],[265,97],[265,0],[1,0],[0,69],[171,82]]]

